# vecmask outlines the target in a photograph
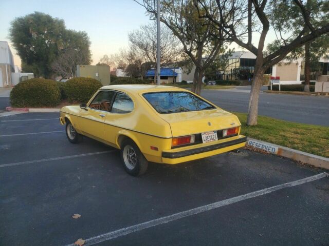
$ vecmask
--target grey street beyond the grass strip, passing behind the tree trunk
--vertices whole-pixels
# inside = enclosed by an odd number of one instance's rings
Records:
[[[225,110],[248,112],[250,93],[246,87],[237,90],[203,90],[201,95]],[[329,126],[329,97],[261,92],[259,95],[259,115]]]

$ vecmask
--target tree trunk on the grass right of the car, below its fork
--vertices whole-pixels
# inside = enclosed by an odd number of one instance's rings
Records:
[[[255,69],[253,74],[253,81],[251,85],[250,98],[249,98],[249,109],[248,109],[248,117],[247,117],[248,126],[257,125],[258,99],[259,99],[259,91],[262,86],[263,77],[264,77],[264,70]]]

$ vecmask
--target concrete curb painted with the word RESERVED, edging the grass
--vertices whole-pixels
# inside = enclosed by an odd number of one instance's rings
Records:
[[[247,137],[247,146],[329,170],[329,158]]]

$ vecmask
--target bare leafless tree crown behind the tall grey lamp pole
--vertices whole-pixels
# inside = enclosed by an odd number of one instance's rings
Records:
[[[172,31],[165,27],[161,28],[161,44],[160,44],[160,61],[161,67],[172,65],[174,60],[179,59],[180,56],[180,42],[172,33]],[[139,29],[134,30],[128,34],[129,38],[129,55],[133,64],[140,69],[141,77],[145,74],[143,64],[152,64],[156,71],[157,60],[157,33],[156,23],[152,22],[148,25],[140,26]],[[156,76],[154,76],[156,81]]]

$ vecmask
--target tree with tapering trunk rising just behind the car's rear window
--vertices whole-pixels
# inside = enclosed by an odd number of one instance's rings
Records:
[[[135,2],[142,5],[152,19],[156,17],[156,1]],[[211,20],[199,18],[198,11],[205,10],[195,2],[198,5],[196,8],[193,0],[163,0],[161,4],[160,20],[180,40],[184,52],[195,65],[192,91],[200,94],[205,69],[224,51],[225,33],[215,28]],[[214,11],[213,16],[218,18],[218,13]]]

